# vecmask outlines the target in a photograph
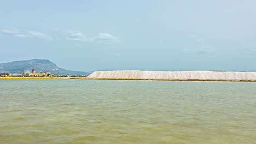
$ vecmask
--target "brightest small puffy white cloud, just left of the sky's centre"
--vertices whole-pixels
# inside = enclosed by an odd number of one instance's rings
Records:
[[[114,37],[108,33],[98,33],[98,36],[92,39],[96,43],[101,44],[114,44],[114,43],[121,43],[121,39],[118,37]]]

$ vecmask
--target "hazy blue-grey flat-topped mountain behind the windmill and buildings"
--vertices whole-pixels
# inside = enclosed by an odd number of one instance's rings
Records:
[[[57,65],[48,59],[31,59],[27,61],[14,61],[9,63],[0,63],[0,73],[8,74],[22,74],[32,73],[32,69],[36,70],[36,73],[43,71],[51,72],[51,74],[58,75],[88,75],[84,71],[72,71],[57,67]]]

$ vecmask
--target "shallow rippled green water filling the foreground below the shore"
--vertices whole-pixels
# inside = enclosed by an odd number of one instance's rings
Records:
[[[256,82],[1,80],[0,143],[256,143]]]

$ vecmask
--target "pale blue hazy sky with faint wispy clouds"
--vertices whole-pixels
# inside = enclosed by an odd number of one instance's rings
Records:
[[[255,0],[0,0],[0,63],[256,71]]]

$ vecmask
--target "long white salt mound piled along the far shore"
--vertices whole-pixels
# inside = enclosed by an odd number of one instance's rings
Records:
[[[256,80],[256,72],[229,71],[95,71],[89,79],[147,79],[147,80]]]

